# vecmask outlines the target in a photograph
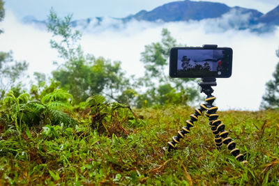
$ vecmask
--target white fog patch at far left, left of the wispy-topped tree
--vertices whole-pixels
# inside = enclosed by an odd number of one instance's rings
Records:
[[[0,27],[4,30],[0,35],[0,51],[13,50],[15,60],[29,62],[29,75],[54,70],[52,61],[56,59],[56,52],[50,48],[50,33],[23,25],[10,11],[6,12]]]

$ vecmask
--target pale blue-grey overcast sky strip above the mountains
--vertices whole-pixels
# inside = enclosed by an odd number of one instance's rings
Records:
[[[4,0],[5,1],[5,0]],[[53,7],[59,15],[73,13],[75,19],[87,17],[126,17],[140,10],[152,10],[173,0],[6,0],[6,9],[17,17],[33,15],[44,20]],[[279,5],[278,0],[208,0],[226,3],[228,6],[254,8],[266,13]]]

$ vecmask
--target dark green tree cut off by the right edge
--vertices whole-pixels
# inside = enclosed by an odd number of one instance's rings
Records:
[[[279,49],[276,50],[279,57]],[[261,107],[264,109],[279,109],[279,63],[273,72],[273,79],[266,83],[266,93],[262,97]]]

